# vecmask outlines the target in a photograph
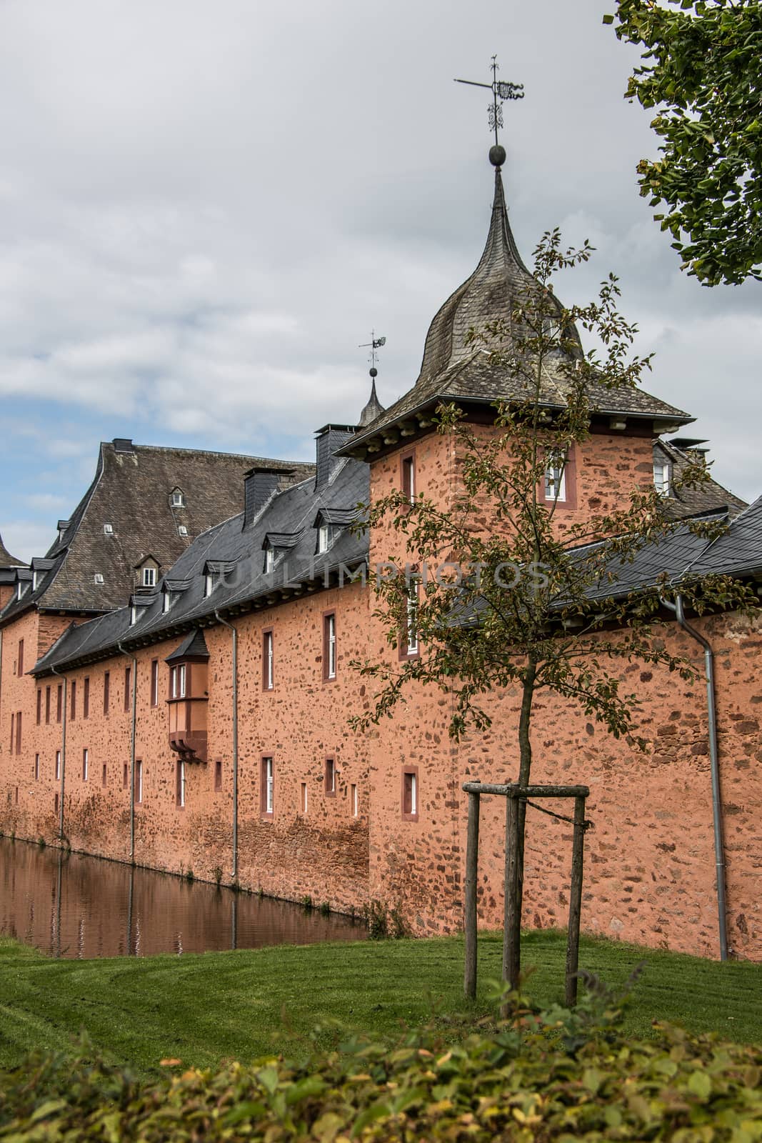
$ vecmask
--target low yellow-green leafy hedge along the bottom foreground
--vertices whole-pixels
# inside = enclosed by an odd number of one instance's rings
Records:
[[[183,1071],[168,1060],[176,1073],[147,1082],[86,1042],[74,1058],[35,1054],[0,1073],[0,1140],[762,1138],[760,1048],[669,1025],[627,1041],[584,1014],[537,1016],[511,1000],[511,1021],[455,1045],[430,1026],[299,1063]]]

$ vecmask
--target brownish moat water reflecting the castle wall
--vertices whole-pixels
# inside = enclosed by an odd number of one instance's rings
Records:
[[[54,957],[149,957],[359,941],[348,918],[0,839],[0,933]]]

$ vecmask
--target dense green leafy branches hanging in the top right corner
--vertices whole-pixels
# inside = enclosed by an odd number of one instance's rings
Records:
[[[618,0],[642,48],[626,97],[656,107],[661,157],[637,165],[682,266],[707,286],[762,275],[762,7],[759,0]],[[613,16],[604,17],[613,23]]]

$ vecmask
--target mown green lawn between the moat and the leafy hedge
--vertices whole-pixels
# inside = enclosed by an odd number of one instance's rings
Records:
[[[527,991],[538,1004],[563,993],[564,937],[523,940],[535,966]],[[274,946],[183,957],[50,960],[0,938],[0,1065],[30,1048],[66,1048],[80,1030],[138,1072],[165,1056],[211,1065],[267,1053],[300,1053],[315,1025],[393,1036],[402,1023],[471,1021],[490,1010],[490,978],[500,974],[502,941],[480,937],[480,992],[463,998],[463,938]],[[762,1040],[762,966],[714,961],[583,940],[580,967],[621,985],[645,968],[634,990],[627,1031],[648,1036],[653,1020],[692,1031]]]

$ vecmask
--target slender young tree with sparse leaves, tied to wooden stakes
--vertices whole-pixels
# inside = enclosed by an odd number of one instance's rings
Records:
[[[535,277],[510,321],[472,331],[474,342],[491,346],[492,362],[513,378],[516,395],[496,407],[488,431],[455,405],[440,406],[438,431],[454,434],[458,450],[452,506],[423,495],[411,503],[400,491],[364,506],[367,526],[391,523],[407,551],[404,567],[398,560],[395,575],[376,580],[376,615],[391,646],[415,640],[420,654],[399,665],[354,664],[378,684],[355,728],[393,716],[409,687],[428,686],[455,697],[449,732],[457,740],[490,726],[486,696],[518,685],[514,780],[521,785],[530,782],[532,708],[542,689],[572,698],[610,734],[644,749],[635,726],[637,695],[623,690],[617,663],[664,664],[683,678],[692,678],[692,669],[657,631],[659,593],[669,592],[668,584],[623,592],[620,574],[644,545],[675,528],[707,536],[719,530],[716,522],[672,521],[652,486],[634,488],[615,511],[560,527],[567,465],[589,438],[596,401],[608,409],[632,407],[624,398],[650,361],[631,357],[636,329],[617,312],[613,275],[586,306],[563,309],[553,295],[554,274],[591,253],[587,243],[563,250],[559,232],[546,233],[535,250]],[[597,338],[600,353],[583,351],[576,325]],[[706,480],[697,454],[683,481],[696,487]],[[724,577],[681,582],[680,591],[699,610],[746,599],[745,589]],[[522,802],[520,886],[524,813]]]

